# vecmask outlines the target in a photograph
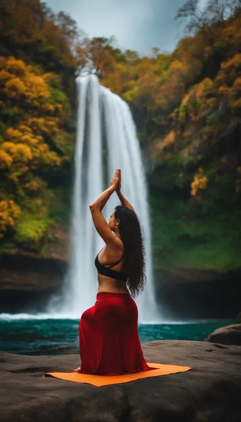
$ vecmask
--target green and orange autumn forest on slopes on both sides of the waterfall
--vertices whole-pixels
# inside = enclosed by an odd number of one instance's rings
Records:
[[[40,0],[2,0],[0,253],[44,257],[51,229],[69,225],[84,69],[134,115],[154,267],[240,267],[241,2],[198,5],[176,11],[186,31],[173,52],[141,56],[114,37],[89,39]]]

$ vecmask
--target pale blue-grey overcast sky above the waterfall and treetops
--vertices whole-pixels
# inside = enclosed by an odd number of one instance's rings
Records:
[[[203,5],[206,0],[200,0]],[[89,37],[114,35],[121,49],[170,52],[183,36],[174,20],[185,0],[47,0],[54,12],[69,13]]]

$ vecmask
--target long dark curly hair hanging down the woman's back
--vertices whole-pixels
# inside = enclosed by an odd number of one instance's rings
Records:
[[[127,286],[133,297],[144,290],[145,247],[144,236],[136,213],[127,206],[117,205],[115,218],[119,219],[119,234],[125,247],[124,271],[128,274]]]

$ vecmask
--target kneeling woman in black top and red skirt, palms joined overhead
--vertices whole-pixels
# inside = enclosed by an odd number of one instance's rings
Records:
[[[79,323],[81,367],[75,372],[82,374],[121,375],[154,369],[143,357],[138,311],[131,297],[145,284],[143,236],[135,210],[120,188],[121,173],[116,169],[110,187],[89,205],[106,246],[95,259],[96,303],[82,314]],[[101,210],[114,191],[122,205],[115,207],[107,224]]]

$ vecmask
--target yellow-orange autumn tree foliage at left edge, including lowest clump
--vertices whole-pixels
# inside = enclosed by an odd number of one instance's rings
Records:
[[[61,164],[63,154],[58,155],[51,149],[54,136],[63,130],[64,111],[51,92],[49,80],[54,78],[53,74],[43,74],[38,66],[27,66],[15,57],[0,57],[0,68],[0,112],[7,123],[0,138],[0,169],[4,182],[0,185],[0,232],[3,237],[21,215],[21,207],[15,204],[19,200],[17,193],[25,192],[26,197],[38,195],[44,183],[36,173],[43,166],[51,168]],[[8,189],[13,195],[16,193],[14,201],[5,200]]]

